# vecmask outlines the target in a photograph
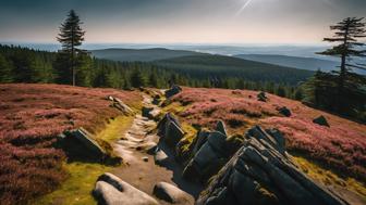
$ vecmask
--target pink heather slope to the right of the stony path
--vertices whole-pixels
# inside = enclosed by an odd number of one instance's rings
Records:
[[[321,163],[346,177],[366,181],[366,125],[357,124],[301,102],[267,94],[268,102],[257,100],[256,91],[184,88],[168,106],[180,106],[180,118],[194,127],[212,128],[223,119],[231,133],[244,133],[254,126],[278,128],[286,139],[286,148]],[[278,110],[286,106],[292,116],[284,117]],[[313,119],[324,115],[330,127],[319,126]]]

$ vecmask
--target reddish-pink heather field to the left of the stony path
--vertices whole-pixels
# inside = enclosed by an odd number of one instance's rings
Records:
[[[22,204],[68,178],[65,155],[51,148],[64,130],[102,130],[121,113],[106,97],[138,106],[138,92],[57,85],[0,85],[0,202]]]

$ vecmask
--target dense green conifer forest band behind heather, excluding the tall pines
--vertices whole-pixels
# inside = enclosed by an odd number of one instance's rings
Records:
[[[71,84],[71,71],[63,66],[62,57],[54,52],[37,51],[14,46],[0,46],[1,82]],[[280,97],[301,100],[296,85],[279,82],[269,74],[252,73],[252,79],[233,74],[210,76],[200,72],[175,69],[161,62],[114,62],[89,55],[78,59],[76,86],[131,89],[138,87],[168,88],[169,82],[190,87],[264,90]],[[283,75],[283,74],[282,74]],[[269,76],[269,77],[268,77]],[[289,74],[289,78],[293,78]],[[298,81],[302,78],[297,78]]]

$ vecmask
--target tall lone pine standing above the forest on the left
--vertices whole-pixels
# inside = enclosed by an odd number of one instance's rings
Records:
[[[76,57],[83,50],[77,49],[84,41],[85,31],[82,29],[83,24],[74,10],[69,12],[68,18],[60,27],[60,34],[57,38],[62,44],[62,51],[70,56],[70,69],[72,72],[72,85],[76,80]]]

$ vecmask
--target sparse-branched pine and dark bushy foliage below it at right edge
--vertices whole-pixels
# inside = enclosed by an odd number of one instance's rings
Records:
[[[330,28],[335,30],[333,38],[325,41],[339,44],[319,54],[339,56],[340,71],[322,73],[318,71],[305,85],[305,102],[324,110],[347,115],[366,121],[366,77],[352,73],[352,68],[364,69],[362,65],[352,64],[352,56],[366,56],[365,50],[357,50],[365,43],[357,42],[366,37],[363,18],[345,18]]]

